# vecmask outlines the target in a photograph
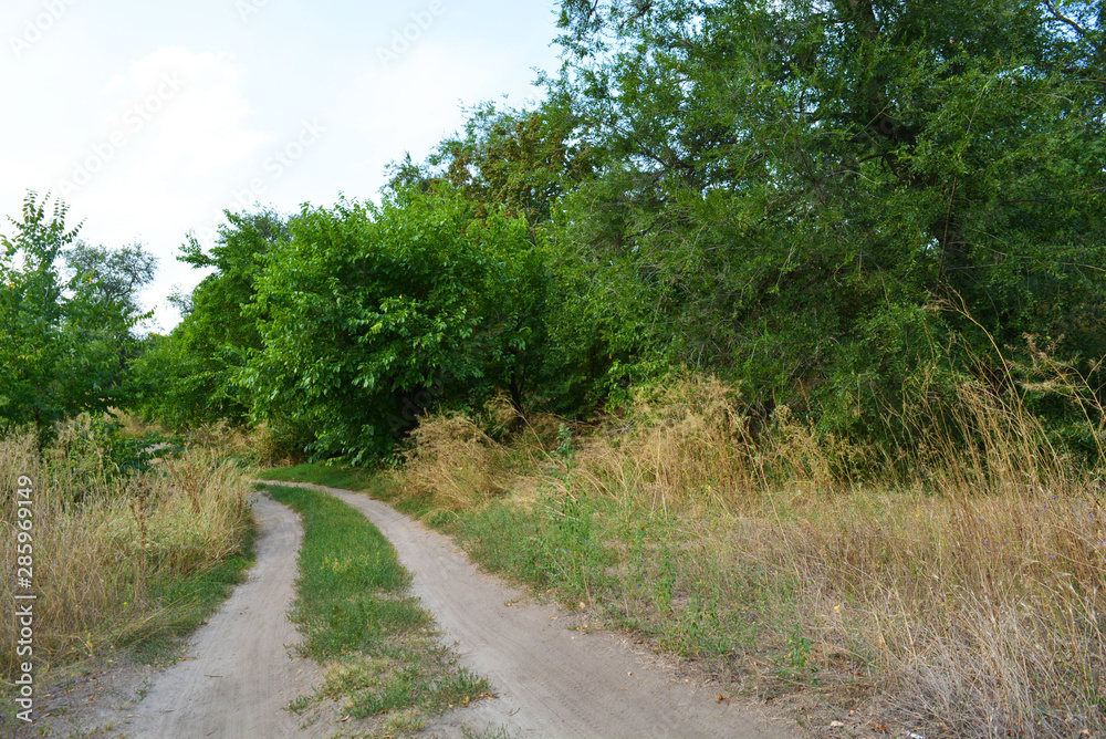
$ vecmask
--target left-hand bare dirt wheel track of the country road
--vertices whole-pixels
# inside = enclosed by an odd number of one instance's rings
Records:
[[[269,498],[253,503],[257,561],[219,612],[188,642],[185,657],[158,673],[121,655],[52,686],[39,724],[19,737],[326,737],[333,724],[304,728],[284,710],[321,679],[294,657],[300,635],[285,612],[295,595],[300,517]]]

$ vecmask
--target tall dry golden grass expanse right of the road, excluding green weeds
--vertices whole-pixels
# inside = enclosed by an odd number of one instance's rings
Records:
[[[406,481],[457,510],[540,487],[664,514],[685,532],[689,582],[764,606],[773,638],[791,620],[823,685],[873,685],[904,724],[1106,731],[1103,460],[1073,464],[981,384],[940,410],[943,430],[926,423],[937,408],[912,407],[908,450],[820,435],[786,409],[754,434],[734,388],[686,376],[577,435],[567,459],[547,434],[504,448],[463,418],[429,419]],[[750,569],[778,586],[741,590]]]

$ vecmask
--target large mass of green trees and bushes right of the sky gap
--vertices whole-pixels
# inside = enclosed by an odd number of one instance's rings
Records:
[[[139,405],[356,462],[434,406],[580,415],[674,366],[763,423],[786,405],[901,441],[908,404],[971,378],[1089,449],[1102,391],[1031,389],[1003,355],[1047,337],[1106,382],[1102,14],[565,0],[541,105],[472,110],[379,206],[228,214],[210,253],[190,241],[216,272],[150,340]]]

